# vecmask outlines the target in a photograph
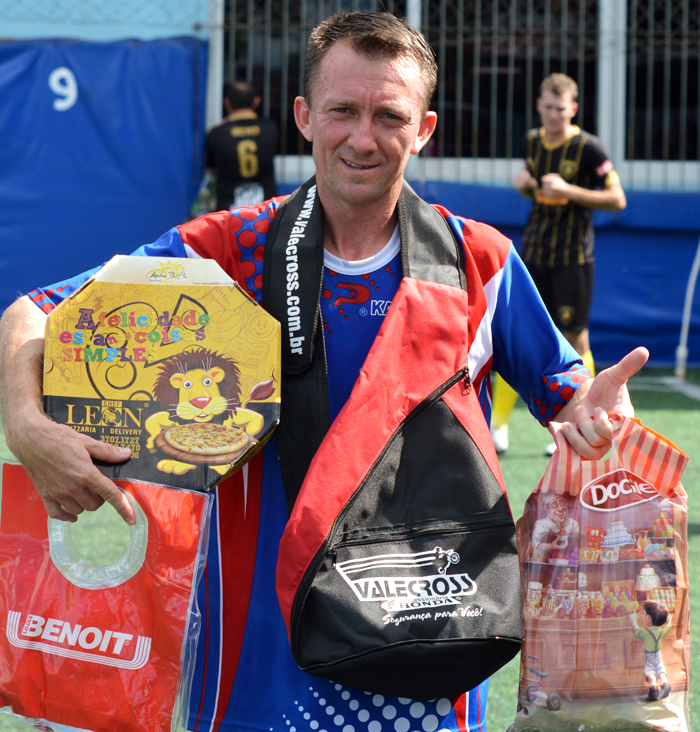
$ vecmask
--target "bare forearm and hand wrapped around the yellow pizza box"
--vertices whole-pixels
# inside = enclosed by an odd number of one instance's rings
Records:
[[[111,503],[128,523],[134,513],[93,459],[121,462],[131,454],[60,425],[43,409],[46,315],[28,298],[0,321],[0,408],[7,446],[24,465],[49,516],[74,522],[84,510]]]

